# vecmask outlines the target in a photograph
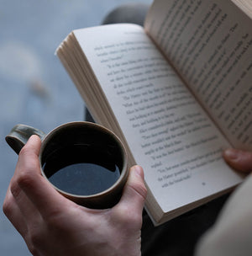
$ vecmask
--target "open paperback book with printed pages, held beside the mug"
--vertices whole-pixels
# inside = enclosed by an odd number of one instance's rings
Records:
[[[227,147],[252,150],[251,1],[156,0],[144,28],[76,29],[56,53],[94,120],[144,168],[155,225],[242,181]]]

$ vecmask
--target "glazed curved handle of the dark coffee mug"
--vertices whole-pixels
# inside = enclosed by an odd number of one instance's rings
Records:
[[[39,136],[42,141],[46,134],[29,125],[15,125],[5,140],[9,147],[12,147],[13,151],[18,154],[32,135]]]

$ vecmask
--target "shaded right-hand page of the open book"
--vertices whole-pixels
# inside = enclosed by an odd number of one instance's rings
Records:
[[[145,23],[228,141],[250,150],[251,27],[234,3],[213,0],[157,0]]]

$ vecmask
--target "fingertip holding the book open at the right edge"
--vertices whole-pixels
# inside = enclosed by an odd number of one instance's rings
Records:
[[[236,170],[244,173],[252,172],[252,152],[230,148],[223,152],[223,157]]]

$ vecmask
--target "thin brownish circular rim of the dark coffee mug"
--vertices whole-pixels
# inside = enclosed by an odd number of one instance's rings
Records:
[[[98,129],[102,129],[103,131],[105,131],[107,134],[109,134],[110,136],[113,136],[113,139],[115,141],[118,142],[118,145],[120,146],[121,150],[122,150],[122,154],[123,154],[123,165],[122,165],[122,171],[120,172],[120,177],[117,179],[117,181],[110,186],[108,189],[102,190],[101,192],[97,193],[97,194],[92,194],[92,195],[76,195],[73,193],[69,193],[66,192],[65,190],[62,190],[60,188],[58,188],[57,186],[55,186],[55,184],[52,184],[50,182],[50,180],[46,177],[45,172],[42,168],[42,153],[43,150],[45,149],[45,146],[47,144],[47,142],[50,140],[50,138],[52,136],[54,136],[56,131],[59,131],[60,129],[66,128],[68,126],[71,125],[86,125],[86,126],[95,126]],[[111,130],[109,130],[108,128],[106,128],[105,126],[102,125],[98,125],[96,123],[92,123],[92,122],[88,122],[88,121],[72,121],[72,122],[67,122],[65,124],[62,125],[58,125],[56,126],[53,130],[51,130],[48,134],[46,134],[45,138],[42,141],[42,145],[40,148],[40,152],[39,152],[39,165],[40,165],[40,171],[42,173],[42,175],[44,176],[44,178],[46,180],[48,180],[50,182],[50,184],[58,191],[60,192],[61,195],[66,195],[66,197],[68,198],[76,198],[77,200],[81,200],[81,199],[87,199],[87,200],[92,200],[92,199],[96,199],[98,197],[101,197],[102,195],[108,195],[110,192],[112,192],[114,189],[117,189],[118,187],[120,187],[122,184],[122,180],[125,179],[125,182],[123,183],[123,185],[126,183],[126,180],[128,178],[128,174],[129,174],[129,169],[128,169],[128,154],[126,152],[126,149],[123,145],[123,142],[119,139],[119,137]]]

